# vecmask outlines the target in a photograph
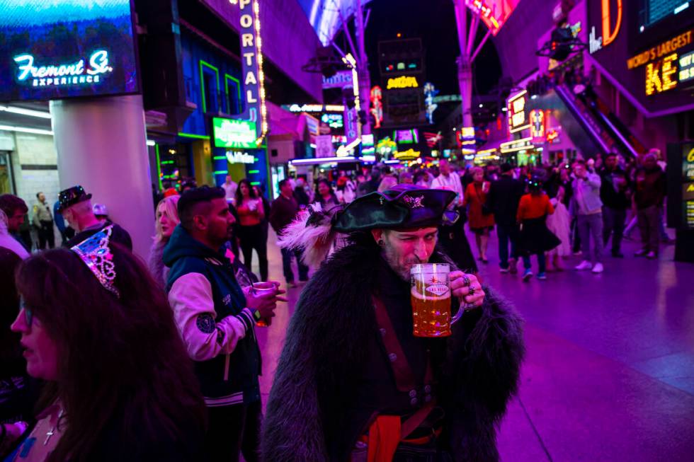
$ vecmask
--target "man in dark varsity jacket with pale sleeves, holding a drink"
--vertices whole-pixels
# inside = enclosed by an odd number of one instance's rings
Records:
[[[188,190],[178,200],[176,226],[164,248],[171,267],[166,291],[174,319],[193,359],[207,405],[205,449],[210,461],[258,460],[261,355],[257,320],[272,318],[275,289],[241,289],[222,253],[232,236],[234,216],[221,187]]]

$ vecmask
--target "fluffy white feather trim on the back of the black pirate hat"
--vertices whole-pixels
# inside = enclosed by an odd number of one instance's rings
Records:
[[[332,229],[333,216],[342,207],[323,210],[321,204],[310,204],[288,224],[278,239],[281,248],[301,250],[302,262],[317,268],[334,249],[334,243],[341,233]]]

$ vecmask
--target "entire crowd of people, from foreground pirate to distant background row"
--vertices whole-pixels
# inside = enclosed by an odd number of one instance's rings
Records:
[[[654,152],[623,162],[375,166],[314,188],[281,180],[272,203],[248,180],[189,185],[157,202],[146,263],[81,186],[55,207],[37,195],[41,242],[51,246],[57,216],[74,231],[47,250],[25,248],[28,207],[2,195],[0,457],[495,461],[523,335],[513,308],[477,280],[477,262],[489,262],[496,232],[501,272],[523,260],[529,280],[535,255],[545,279],[579,251],[576,270],[602,272],[610,239],[623,256],[630,209],[637,255],[656,258],[664,172]],[[282,248],[285,282],[305,285],[263,417],[256,329],[287,301],[268,280],[268,226],[280,242],[312,244]],[[309,246],[331,253],[311,277]],[[426,262],[451,266],[462,321],[448,338],[411,335],[410,272]]]

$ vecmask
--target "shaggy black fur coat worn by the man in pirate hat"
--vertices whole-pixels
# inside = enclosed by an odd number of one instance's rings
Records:
[[[377,330],[370,294],[380,248],[373,239],[327,260],[302,291],[288,329],[263,421],[266,462],[346,462],[331,454],[353,372]],[[437,254],[432,261],[443,261]],[[518,387],[522,320],[489,288],[472,323],[453,325],[443,364],[448,444],[455,461],[498,461],[496,427]],[[467,316],[467,314],[466,314]],[[334,451],[332,451],[334,452]]]

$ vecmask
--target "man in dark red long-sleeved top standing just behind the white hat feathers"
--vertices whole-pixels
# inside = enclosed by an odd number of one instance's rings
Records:
[[[277,233],[277,236],[282,236],[285,228],[296,218],[299,213],[299,204],[292,196],[292,184],[289,180],[280,180],[280,195],[273,200],[270,209],[270,224]],[[292,255],[297,259],[297,267],[299,267],[299,280],[306,282],[309,280],[309,268],[301,261],[300,250],[290,250],[281,248],[282,251],[282,269],[285,275],[287,284],[294,287],[294,272],[292,272]]]

